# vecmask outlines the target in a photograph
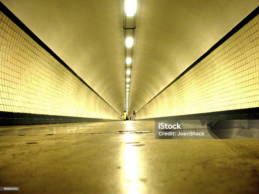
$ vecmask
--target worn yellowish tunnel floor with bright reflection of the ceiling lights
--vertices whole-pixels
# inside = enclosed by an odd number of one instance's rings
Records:
[[[155,139],[154,125],[2,126],[0,186],[20,191],[0,193],[259,193],[258,139]]]

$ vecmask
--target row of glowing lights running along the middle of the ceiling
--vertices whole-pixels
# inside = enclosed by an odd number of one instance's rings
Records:
[[[128,114],[130,83],[131,83],[131,69],[133,56],[133,38],[134,29],[136,28],[136,0],[125,0],[125,71],[126,71],[126,113]]]

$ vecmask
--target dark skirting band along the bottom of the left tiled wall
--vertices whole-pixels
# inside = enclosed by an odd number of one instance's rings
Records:
[[[115,121],[101,118],[84,118],[58,115],[40,115],[30,113],[12,113],[0,111],[0,126],[31,125],[31,124],[55,124],[55,123],[82,123]]]

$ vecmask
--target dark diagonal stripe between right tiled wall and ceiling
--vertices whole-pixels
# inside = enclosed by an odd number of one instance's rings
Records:
[[[149,102],[155,99],[159,94],[165,91],[168,87],[174,84],[179,78],[181,78],[185,73],[191,70],[195,65],[201,62],[204,58],[206,58],[209,54],[212,53],[216,48],[218,48],[222,43],[224,43],[227,39],[229,39],[232,35],[234,35],[237,31],[239,31],[242,27],[244,27],[249,21],[254,19],[259,14],[259,6],[255,8],[251,13],[248,14],[238,25],[236,25],[231,31],[229,31],[223,38],[221,38],[216,44],[214,44],[206,53],[204,53],[200,58],[198,58],[193,64],[191,64],[184,72],[182,72],[177,78],[175,78],[170,84],[168,84],[161,92],[154,96],[151,100],[149,100],[143,107],[145,107]],[[143,107],[141,107],[138,111],[140,111]],[[137,112],[138,112],[137,111]],[[137,113],[136,112],[136,113]]]

